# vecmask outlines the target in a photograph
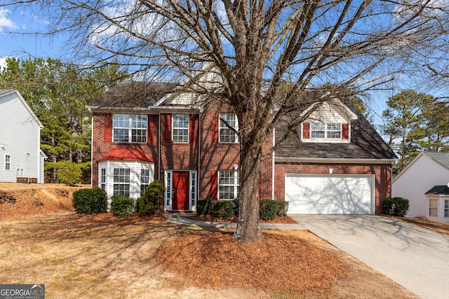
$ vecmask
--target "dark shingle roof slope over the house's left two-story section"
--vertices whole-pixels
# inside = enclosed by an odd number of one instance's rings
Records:
[[[147,108],[177,86],[163,82],[122,82],[88,104],[90,107]]]

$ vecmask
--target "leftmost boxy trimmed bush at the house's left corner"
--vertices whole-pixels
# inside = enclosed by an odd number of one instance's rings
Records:
[[[106,191],[100,188],[76,190],[73,193],[72,204],[79,214],[104,213],[107,207]]]

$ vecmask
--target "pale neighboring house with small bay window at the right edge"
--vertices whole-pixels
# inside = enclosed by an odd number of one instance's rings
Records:
[[[394,179],[391,196],[410,200],[407,217],[449,223],[449,153],[422,152]]]

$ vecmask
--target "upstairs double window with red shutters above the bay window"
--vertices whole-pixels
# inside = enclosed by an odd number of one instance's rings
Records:
[[[114,114],[114,142],[147,142],[147,116]]]

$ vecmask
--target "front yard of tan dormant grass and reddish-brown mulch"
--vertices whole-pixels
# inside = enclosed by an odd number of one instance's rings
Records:
[[[239,244],[229,230],[74,214],[86,187],[25,186],[0,183],[15,197],[0,204],[0,284],[45,284],[46,298],[417,298],[307,231]]]

